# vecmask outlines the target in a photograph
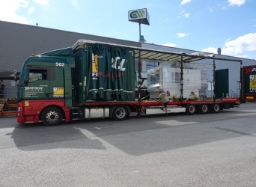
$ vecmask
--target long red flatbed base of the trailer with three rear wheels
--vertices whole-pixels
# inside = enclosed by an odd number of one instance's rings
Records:
[[[138,115],[145,114],[165,114],[162,110],[162,104],[156,101],[142,101],[138,103],[134,102],[88,102],[86,104],[89,106],[104,107],[105,105],[120,105],[129,108],[129,112],[137,113]],[[186,114],[207,114],[208,112],[217,113],[223,109],[234,108],[240,105],[240,98],[223,98],[216,99],[193,99],[187,101],[169,101],[168,102],[168,113],[180,113],[185,112]],[[138,113],[138,108],[140,108],[140,113]]]

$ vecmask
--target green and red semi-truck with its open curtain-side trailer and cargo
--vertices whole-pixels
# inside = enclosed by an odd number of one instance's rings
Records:
[[[216,60],[242,64],[202,53],[187,55],[91,40],[78,40],[69,48],[30,56],[19,76],[17,122],[55,126],[64,121],[94,118],[125,120],[133,113],[165,114],[162,104],[156,102],[156,93],[168,89],[171,92],[168,113],[207,114],[233,108],[239,98],[200,96],[205,86],[201,74],[205,72],[192,69],[189,64],[200,64],[204,59],[213,61],[213,72]],[[141,61],[165,64],[159,67],[159,83],[147,98],[141,97]],[[178,65],[166,67],[172,63]],[[214,76],[215,73],[213,81]],[[175,84],[171,85],[174,77]],[[152,85],[152,80],[147,80],[148,87],[149,84]]]

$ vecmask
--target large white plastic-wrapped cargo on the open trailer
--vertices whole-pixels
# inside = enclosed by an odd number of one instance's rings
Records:
[[[150,98],[157,98],[159,91],[170,93],[170,98],[180,98],[180,63],[168,62],[147,71],[147,91]],[[183,66],[183,98],[205,97],[207,93],[207,71],[189,65]]]

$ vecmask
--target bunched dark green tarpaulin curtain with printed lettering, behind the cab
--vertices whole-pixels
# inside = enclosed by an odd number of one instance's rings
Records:
[[[86,44],[85,99],[135,100],[134,50]]]

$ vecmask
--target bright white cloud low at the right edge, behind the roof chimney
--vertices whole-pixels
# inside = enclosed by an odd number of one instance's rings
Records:
[[[202,52],[217,53],[217,48],[208,47],[203,49]],[[255,54],[254,56],[246,54]],[[243,58],[255,58],[256,57],[256,33],[245,34],[241,37],[237,37],[235,40],[227,40],[222,47],[222,55],[237,56]]]

